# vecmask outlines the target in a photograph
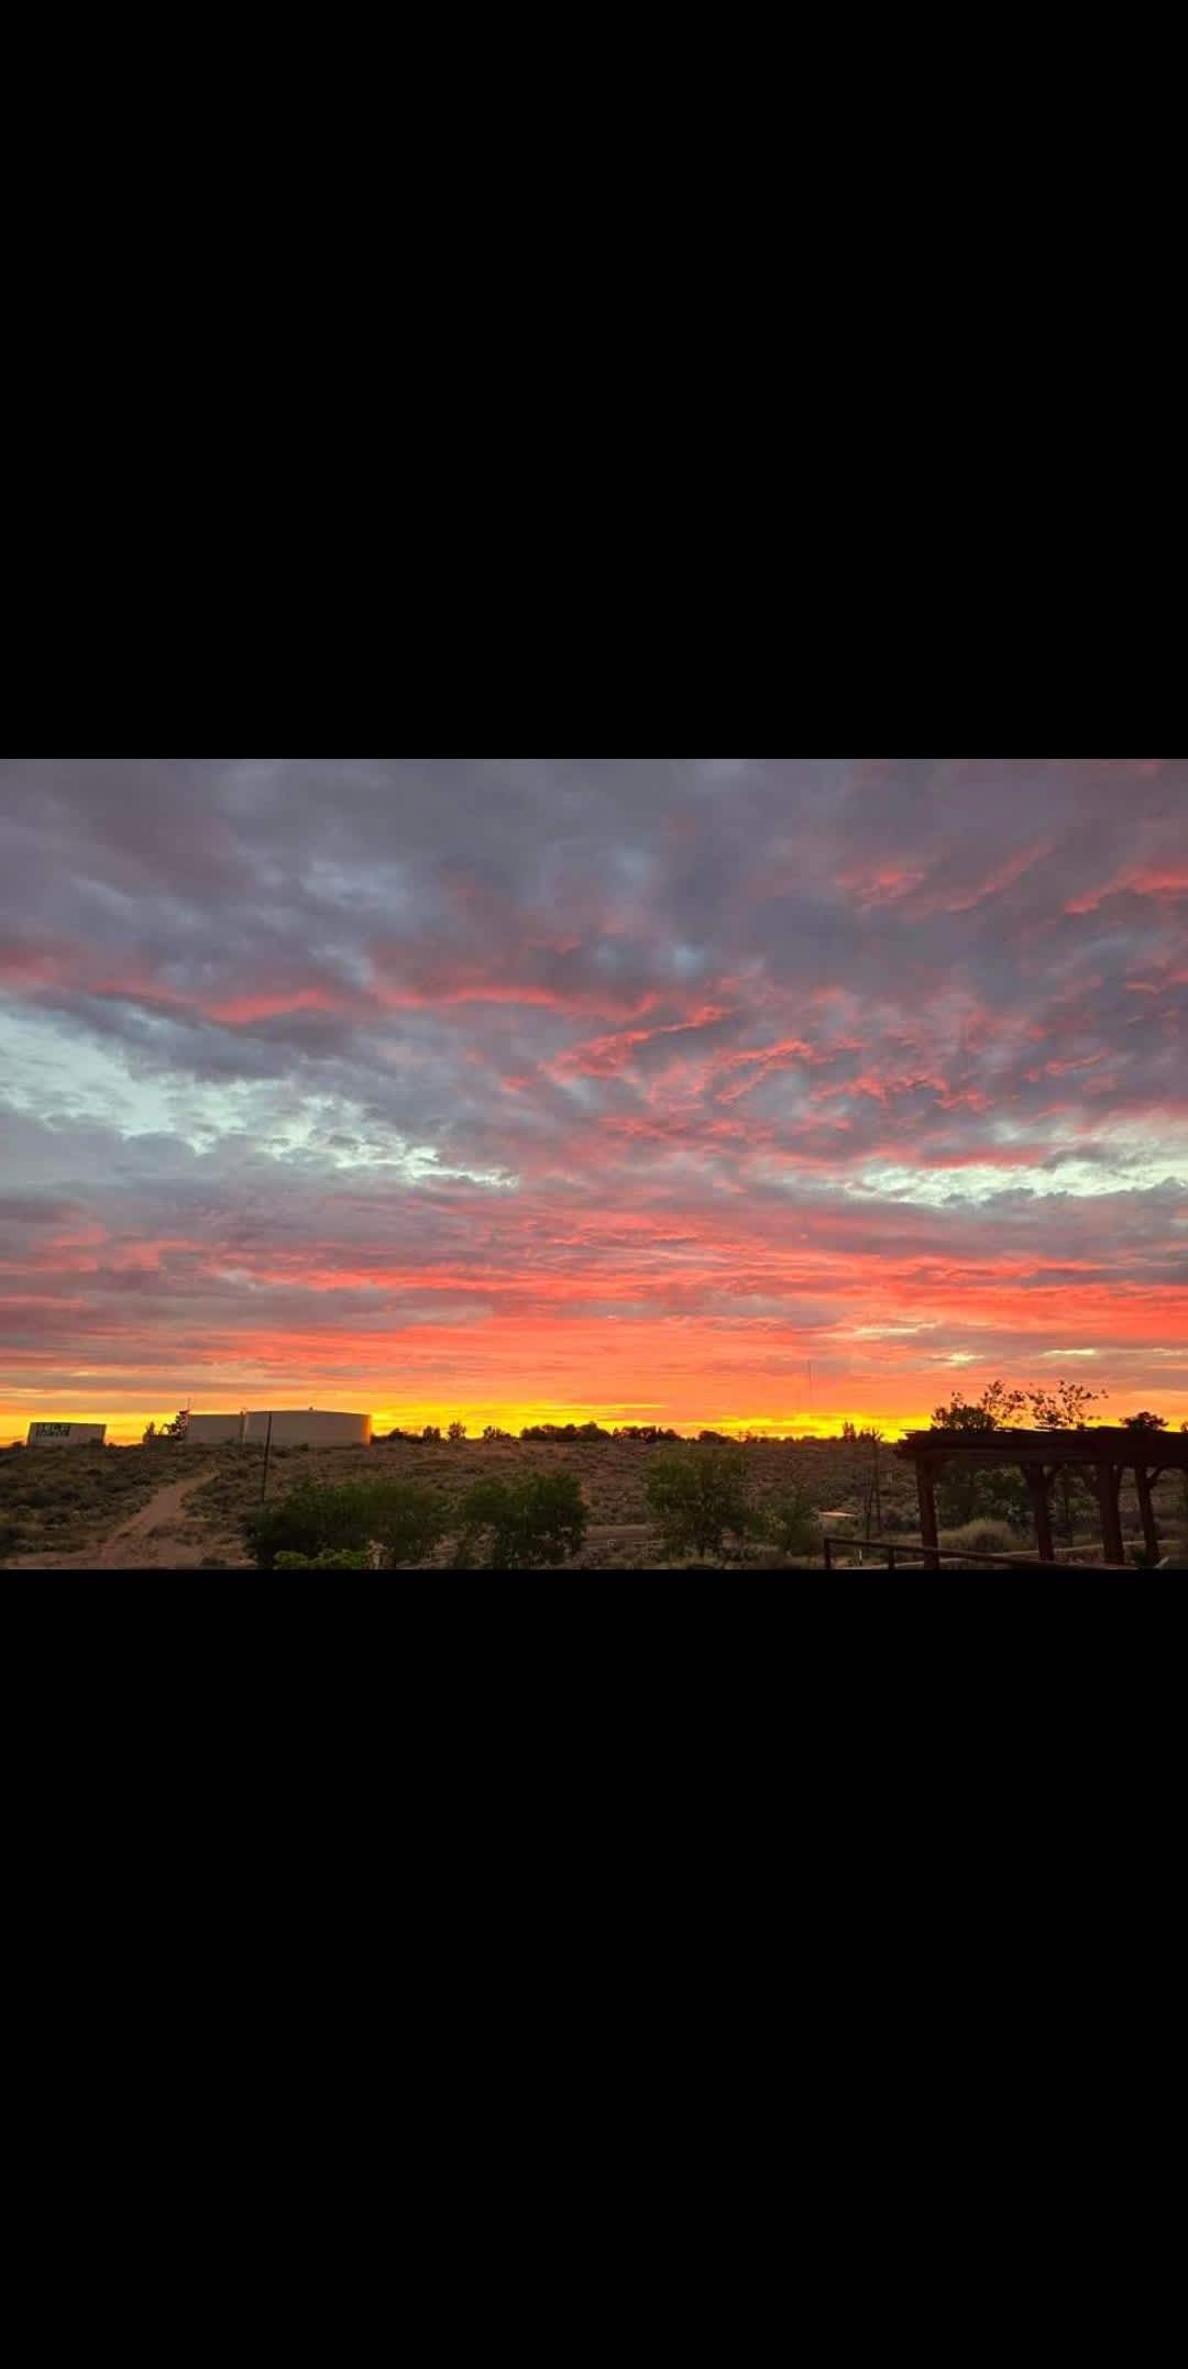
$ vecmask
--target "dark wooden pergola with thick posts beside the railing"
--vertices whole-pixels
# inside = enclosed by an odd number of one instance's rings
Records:
[[[1022,1469],[1031,1492],[1041,1564],[1055,1564],[1048,1490],[1062,1464],[1074,1466],[1096,1490],[1100,1504],[1105,1561],[1124,1564],[1117,1509],[1122,1474],[1126,1466],[1133,1469],[1143,1540],[1155,1561],[1160,1554],[1160,1533],[1155,1528],[1150,1485],[1162,1471],[1188,1471],[1188,1433],[1129,1431],[1105,1424],[1086,1431],[908,1431],[908,1438],[892,1447],[892,1455],[915,1464],[920,1537],[925,1542],[925,1561],[932,1571],[941,1568],[934,1483],[953,1457],[963,1457],[967,1469],[994,1471],[1001,1464],[1017,1464]]]

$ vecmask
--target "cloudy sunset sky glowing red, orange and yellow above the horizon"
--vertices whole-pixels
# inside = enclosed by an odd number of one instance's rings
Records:
[[[7,758],[0,1440],[1181,1421],[1186,1009],[1183,758]]]

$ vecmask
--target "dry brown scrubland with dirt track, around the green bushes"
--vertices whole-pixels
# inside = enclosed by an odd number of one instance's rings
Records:
[[[640,1440],[465,1440],[429,1445],[382,1440],[372,1447],[280,1447],[268,1462],[268,1497],[299,1481],[351,1481],[363,1474],[432,1481],[446,1495],[462,1495],[488,1474],[574,1471],[590,1509],[590,1528],[579,1568],[664,1566],[647,1521],[647,1471],[664,1447]],[[858,1540],[870,1450],[849,1440],[797,1440],[747,1447],[754,1495],[797,1481],[828,1528]],[[14,1571],[157,1566],[251,1568],[239,1537],[239,1516],[258,1504],[261,1447],[187,1450],[180,1443],[100,1450],[14,1450],[0,1457],[0,1561]],[[1174,1540],[1188,1528],[1181,1514],[1179,1476],[1167,1474],[1155,1492],[1160,1533]],[[1126,1483],[1122,1521],[1138,1540],[1138,1507]],[[918,1537],[915,1481],[906,1464],[882,1452],[882,1530]],[[1088,1540],[1088,1526],[1081,1528]],[[1058,1526],[1060,1540],[1060,1526]],[[1020,1547],[1027,1540],[1020,1537]],[[448,1549],[443,1549],[443,1556]]]

